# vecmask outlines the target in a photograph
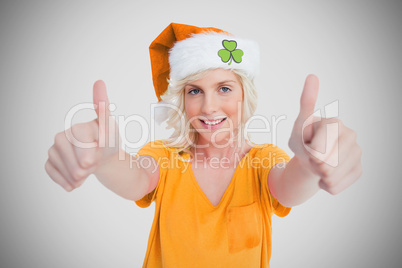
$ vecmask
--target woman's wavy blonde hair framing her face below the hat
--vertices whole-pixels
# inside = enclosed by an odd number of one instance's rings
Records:
[[[198,132],[189,123],[186,116],[184,106],[184,87],[192,81],[201,79],[209,71],[211,70],[192,74],[179,81],[169,81],[168,89],[161,98],[164,102],[177,107],[177,111],[172,109],[169,109],[168,111],[168,120],[166,121],[168,125],[167,128],[173,128],[174,132],[164,141],[166,146],[176,148],[181,152],[187,151],[187,149],[196,144]],[[257,91],[253,81],[251,81],[242,71],[235,69],[231,71],[239,79],[243,89],[240,127],[237,129],[237,133],[234,133],[234,137],[238,139],[240,147],[243,147],[245,138],[247,137],[249,139],[249,134],[245,133],[244,126],[257,108]],[[239,146],[239,143],[237,146]]]

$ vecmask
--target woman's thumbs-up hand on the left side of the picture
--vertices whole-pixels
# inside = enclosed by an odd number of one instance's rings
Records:
[[[97,118],[58,133],[48,151],[46,172],[66,191],[81,186],[120,148],[118,127],[110,116],[106,86],[101,80],[94,84],[93,102]]]

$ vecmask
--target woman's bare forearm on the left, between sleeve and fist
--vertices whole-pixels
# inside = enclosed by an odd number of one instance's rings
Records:
[[[95,171],[96,178],[117,195],[138,200],[148,190],[149,178],[144,169],[136,163],[136,158],[125,151],[113,155]]]

